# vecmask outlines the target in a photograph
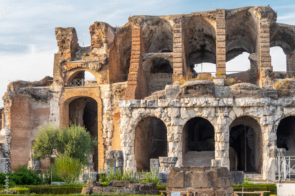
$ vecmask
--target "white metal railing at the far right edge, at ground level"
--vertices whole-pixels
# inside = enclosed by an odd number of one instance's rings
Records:
[[[278,157],[278,181],[295,180],[295,156]]]

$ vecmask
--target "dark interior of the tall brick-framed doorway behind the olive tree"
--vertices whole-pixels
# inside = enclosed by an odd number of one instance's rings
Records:
[[[76,98],[69,103],[69,121],[73,124],[85,126],[92,137],[98,137],[97,102],[91,97]],[[90,171],[98,171],[98,147],[94,148],[94,154],[89,156],[92,163]]]

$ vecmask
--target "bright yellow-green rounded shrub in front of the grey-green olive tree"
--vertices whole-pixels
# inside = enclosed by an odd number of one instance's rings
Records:
[[[71,158],[69,155],[61,155],[55,158],[55,163],[52,167],[56,175],[69,184],[78,181],[83,163],[75,158]]]

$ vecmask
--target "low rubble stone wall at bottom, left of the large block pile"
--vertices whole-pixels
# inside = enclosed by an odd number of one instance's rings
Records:
[[[100,182],[89,179],[87,181],[86,187],[83,187],[81,195],[88,195],[91,193],[116,194],[119,192],[124,192],[126,190],[132,191],[133,194],[140,195],[157,194],[157,185],[154,182],[145,183],[128,180],[111,180],[109,183],[109,186],[103,187]]]

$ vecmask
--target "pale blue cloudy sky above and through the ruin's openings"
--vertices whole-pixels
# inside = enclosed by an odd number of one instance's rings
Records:
[[[0,97],[10,81],[53,76],[54,53],[58,52],[55,27],[75,27],[79,45],[90,46],[89,26],[94,21],[123,26],[134,15],[188,14],[268,4],[277,11],[277,22],[295,25],[295,3],[291,0],[0,0]],[[248,56],[243,53],[227,62],[227,70],[248,70]],[[286,71],[282,49],[272,48],[271,56],[274,71]],[[203,63],[196,70],[214,71],[214,66]]]

